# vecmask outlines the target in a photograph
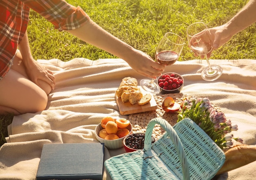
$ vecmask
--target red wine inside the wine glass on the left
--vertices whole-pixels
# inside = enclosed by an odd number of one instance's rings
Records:
[[[174,64],[179,58],[179,54],[174,51],[161,51],[155,55],[157,62],[165,65]]]

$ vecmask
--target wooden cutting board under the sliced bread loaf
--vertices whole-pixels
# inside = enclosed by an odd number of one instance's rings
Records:
[[[140,88],[141,89],[141,88]],[[146,94],[145,91],[141,89],[141,92],[143,95]],[[118,98],[117,95],[115,95],[115,98],[117,100],[117,106],[119,108],[119,112],[121,115],[128,115],[128,114],[134,114],[134,113],[142,113],[146,111],[153,111],[157,109],[157,103],[155,102],[155,98],[151,94],[152,98],[149,103],[144,104],[144,105],[139,105],[138,103],[136,104],[131,104],[130,102],[125,102],[123,103],[121,98]]]

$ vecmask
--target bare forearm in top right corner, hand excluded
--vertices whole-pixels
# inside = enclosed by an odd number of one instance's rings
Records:
[[[256,22],[256,0],[249,2],[229,22],[225,24],[231,36],[249,27]]]

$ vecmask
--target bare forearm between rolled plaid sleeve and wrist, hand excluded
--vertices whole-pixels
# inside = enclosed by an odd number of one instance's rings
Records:
[[[79,39],[126,60],[135,49],[99,27],[92,20],[84,26],[68,31]]]

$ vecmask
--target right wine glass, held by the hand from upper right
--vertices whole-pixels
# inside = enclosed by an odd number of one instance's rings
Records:
[[[213,38],[204,22],[195,22],[187,28],[187,38],[189,47],[193,53],[199,56],[205,56],[208,66],[202,70],[201,76],[206,81],[214,81],[222,74],[222,68],[218,65],[211,65],[207,54],[211,52]]]

